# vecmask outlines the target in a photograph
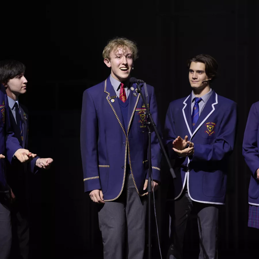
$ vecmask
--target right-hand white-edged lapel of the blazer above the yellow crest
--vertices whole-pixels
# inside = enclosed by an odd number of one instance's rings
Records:
[[[209,100],[205,104],[199,119],[194,128],[193,135],[197,132],[197,130],[203,125],[203,123],[210,117],[210,115],[215,111],[214,105],[218,104],[218,95],[213,91]]]

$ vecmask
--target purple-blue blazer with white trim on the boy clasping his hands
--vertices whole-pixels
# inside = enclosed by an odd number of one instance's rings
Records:
[[[166,143],[171,158],[176,159],[174,197],[178,199],[187,184],[193,201],[224,204],[227,158],[235,143],[237,105],[213,91],[193,129],[191,101],[189,95],[171,102],[165,120]],[[172,151],[172,141],[186,135],[194,143],[194,155],[179,158]]]

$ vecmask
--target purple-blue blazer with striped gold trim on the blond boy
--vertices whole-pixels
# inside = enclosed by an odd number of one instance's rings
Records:
[[[80,139],[85,192],[102,189],[104,201],[113,201],[120,196],[128,165],[136,191],[140,196],[144,193],[148,172],[146,109],[135,90],[136,84],[132,87],[128,96],[126,129],[110,78],[83,94]],[[144,87],[142,92],[145,97]],[[160,132],[154,88],[147,85],[147,93],[147,103]],[[155,132],[151,134],[151,145],[153,179],[159,181],[161,151]]]

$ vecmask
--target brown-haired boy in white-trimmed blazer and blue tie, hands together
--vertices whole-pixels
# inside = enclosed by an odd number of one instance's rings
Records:
[[[165,120],[166,143],[175,159],[176,173],[171,215],[174,235],[168,258],[182,258],[187,219],[195,210],[199,258],[215,259],[218,209],[225,203],[227,158],[235,143],[237,107],[210,88],[218,68],[214,58],[195,56],[188,60],[188,68],[193,91],[170,103]]]

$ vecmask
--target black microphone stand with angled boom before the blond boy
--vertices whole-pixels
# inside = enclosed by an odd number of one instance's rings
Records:
[[[165,159],[167,161],[167,165],[170,168],[170,173],[173,178],[176,178],[176,175],[174,173],[174,170],[170,164],[169,158],[167,157],[167,154],[165,152],[165,148],[163,146],[162,140],[158,134],[157,127],[155,125],[155,122],[153,121],[152,115],[148,109],[148,106],[146,104],[146,100],[143,97],[141,87],[138,83],[137,85],[137,92],[140,94],[142,101],[144,102],[144,105],[146,107],[146,112],[148,114],[148,121],[145,123],[148,125],[148,259],[151,259],[151,127],[153,127],[155,134],[158,138],[160,147],[163,151],[163,155],[165,156]],[[152,177],[153,178],[153,177]]]

